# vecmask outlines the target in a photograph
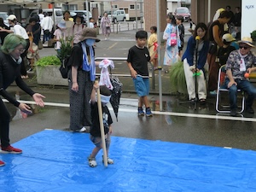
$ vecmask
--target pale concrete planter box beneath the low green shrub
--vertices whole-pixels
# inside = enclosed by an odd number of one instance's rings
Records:
[[[38,84],[68,85],[67,79],[61,77],[59,67],[60,66],[37,66]]]

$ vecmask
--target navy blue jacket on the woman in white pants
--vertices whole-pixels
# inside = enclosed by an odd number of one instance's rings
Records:
[[[194,61],[195,45],[196,45],[195,38],[191,36],[188,41],[187,49],[185,50],[182,58],[182,61],[184,59],[187,59],[189,66],[193,66],[194,64],[193,61]],[[199,56],[197,61],[197,68],[203,69],[203,67],[205,66],[207,61],[208,50],[209,50],[209,41],[207,40],[207,41],[204,41],[203,48],[198,53]]]

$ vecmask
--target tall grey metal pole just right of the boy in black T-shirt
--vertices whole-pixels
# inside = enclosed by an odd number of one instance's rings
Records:
[[[158,44],[161,44],[161,38],[160,38],[160,0],[156,0],[156,23],[157,23],[157,42]],[[159,77],[159,103],[160,103],[160,111],[163,111],[163,101],[162,101],[162,67],[161,67],[161,53],[160,53],[160,46],[157,48],[158,52],[158,77]]]

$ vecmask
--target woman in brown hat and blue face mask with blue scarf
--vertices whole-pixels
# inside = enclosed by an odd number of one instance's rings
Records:
[[[94,28],[84,27],[80,43],[73,46],[68,64],[68,86],[70,96],[70,130],[84,131],[91,125],[90,93],[96,75],[93,45],[99,42]]]

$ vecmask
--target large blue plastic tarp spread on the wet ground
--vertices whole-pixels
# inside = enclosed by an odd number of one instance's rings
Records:
[[[1,192],[256,191],[256,152],[112,137],[113,165],[88,166],[89,134],[41,131],[0,154]]]

